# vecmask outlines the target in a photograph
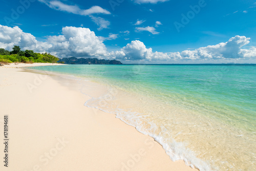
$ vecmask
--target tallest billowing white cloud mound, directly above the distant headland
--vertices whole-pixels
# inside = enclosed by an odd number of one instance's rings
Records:
[[[62,35],[49,36],[49,52],[59,57],[93,56],[101,58],[107,51],[102,40],[88,28],[63,27]]]

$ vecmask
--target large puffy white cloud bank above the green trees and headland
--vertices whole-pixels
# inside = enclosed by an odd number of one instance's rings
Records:
[[[24,33],[20,28],[0,25],[0,48],[11,51],[14,45],[22,50],[35,52],[50,52],[57,57],[98,57],[107,54],[102,40],[88,28],[63,27],[62,34],[48,36],[47,42],[37,41],[30,33]]]

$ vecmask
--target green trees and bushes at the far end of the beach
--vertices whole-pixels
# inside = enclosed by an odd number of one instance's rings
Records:
[[[32,50],[22,51],[19,46],[14,46],[9,52],[3,48],[0,49],[0,63],[24,62],[24,63],[56,63],[59,58],[50,53],[34,53]]]

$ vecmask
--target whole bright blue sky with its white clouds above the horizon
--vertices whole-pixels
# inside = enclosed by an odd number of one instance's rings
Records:
[[[0,48],[124,63],[256,63],[256,1],[0,0]]]

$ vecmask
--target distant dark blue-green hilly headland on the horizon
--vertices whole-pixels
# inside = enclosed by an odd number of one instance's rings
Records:
[[[64,62],[66,64],[110,64],[110,65],[121,65],[122,62],[118,60],[105,60],[97,58],[62,58],[58,62]]]

